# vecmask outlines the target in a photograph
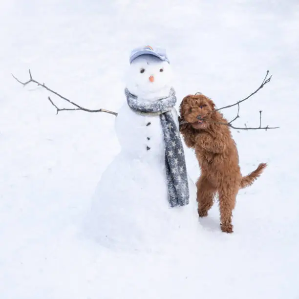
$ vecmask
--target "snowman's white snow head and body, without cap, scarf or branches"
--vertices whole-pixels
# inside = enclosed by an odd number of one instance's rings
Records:
[[[130,66],[127,88],[140,101],[167,97],[170,72],[168,63],[143,55]],[[175,108],[172,114],[178,127]],[[169,205],[160,116],[136,113],[126,101],[116,117],[115,131],[121,151],[102,174],[94,194],[88,235],[104,246],[140,248],[169,242],[186,226],[194,228],[196,187],[189,177],[189,205]]]

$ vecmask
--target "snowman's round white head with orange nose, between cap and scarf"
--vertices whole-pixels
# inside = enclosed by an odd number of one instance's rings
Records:
[[[171,65],[151,54],[140,55],[132,60],[126,81],[129,92],[140,99],[167,97],[172,86]]]

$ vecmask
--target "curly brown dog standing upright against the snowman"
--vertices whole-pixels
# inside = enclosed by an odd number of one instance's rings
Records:
[[[196,183],[198,215],[205,217],[218,193],[220,227],[233,233],[232,212],[241,188],[253,184],[267,166],[260,163],[255,171],[243,176],[238,151],[228,121],[216,111],[214,102],[202,94],[186,96],[180,106],[180,132],[189,148],[195,149],[201,168]]]

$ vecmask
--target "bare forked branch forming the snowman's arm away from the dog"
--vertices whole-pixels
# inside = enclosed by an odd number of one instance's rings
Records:
[[[80,106],[80,105],[78,105],[78,104],[76,104],[76,103],[70,101],[69,99],[67,99],[67,98],[65,98],[64,96],[62,96],[61,94],[59,94],[58,92],[56,92],[56,91],[50,89],[49,87],[47,87],[46,85],[44,85],[44,83],[41,84],[40,82],[34,80],[34,79],[32,78],[30,69],[29,69],[30,80],[28,80],[28,81],[26,81],[26,82],[21,82],[21,81],[20,81],[18,78],[16,78],[13,74],[11,74],[11,75],[12,75],[12,77],[13,77],[15,80],[17,80],[17,81],[18,81],[19,83],[21,83],[23,86],[25,86],[25,85],[27,85],[27,84],[29,84],[29,83],[31,83],[31,82],[32,82],[32,83],[35,83],[35,84],[37,84],[38,86],[42,86],[42,87],[45,88],[46,90],[48,90],[48,91],[54,93],[55,95],[59,96],[59,97],[60,97],[61,99],[63,99],[64,101],[66,101],[66,102],[68,102],[68,103],[70,103],[71,105],[73,105],[73,106],[76,107],[76,108],[59,108],[59,107],[57,107],[57,106],[53,103],[53,101],[51,100],[51,98],[48,97],[48,100],[50,101],[50,103],[51,103],[51,104],[56,108],[56,110],[57,110],[57,113],[56,113],[56,114],[58,114],[59,111],[82,110],[82,111],[86,111],[86,112],[106,112],[106,113],[113,114],[113,115],[117,116],[117,113],[116,113],[116,112],[113,112],[113,111],[110,111],[110,110],[106,110],[106,109],[102,109],[102,108],[101,108],[101,109],[96,109],[96,110],[87,109],[87,108],[84,108],[84,107],[82,107],[82,106]]]

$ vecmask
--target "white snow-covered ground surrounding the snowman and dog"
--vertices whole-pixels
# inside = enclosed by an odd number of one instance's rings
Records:
[[[297,0],[4,0],[0,40],[1,299],[299,298]],[[167,48],[178,99],[201,91],[228,105],[273,75],[237,124],[258,126],[262,110],[280,128],[233,131],[244,174],[269,164],[239,192],[233,235],[220,232],[216,205],[196,237],[168,246],[113,251],[81,233],[119,151],[114,116],[56,115],[45,90],[10,73],[27,80],[30,68],[78,104],[117,111],[129,51],[142,44]]]

